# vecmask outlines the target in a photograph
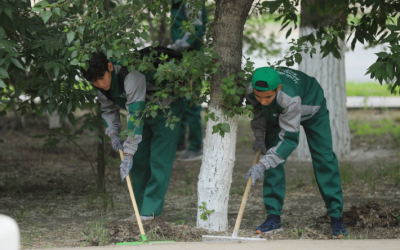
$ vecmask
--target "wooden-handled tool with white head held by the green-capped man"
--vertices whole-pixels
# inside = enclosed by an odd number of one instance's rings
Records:
[[[260,159],[261,148],[258,149],[256,157],[254,158],[253,165],[256,165]],[[218,235],[203,235],[203,241],[265,241],[266,239],[261,238],[250,238],[250,237],[237,237],[239,233],[240,223],[242,222],[244,208],[246,207],[247,197],[249,196],[251,188],[251,177],[247,181],[246,189],[243,194],[242,204],[240,204],[240,209],[238,217],[236,219],[235,229],[233,230],[232,236],[218,236]]]

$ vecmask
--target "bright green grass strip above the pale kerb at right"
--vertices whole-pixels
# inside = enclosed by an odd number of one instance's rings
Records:
[[[390,93],[389,85],[380,85],[378,82],[347,82],[346,93],[347,96],[395,96]]]

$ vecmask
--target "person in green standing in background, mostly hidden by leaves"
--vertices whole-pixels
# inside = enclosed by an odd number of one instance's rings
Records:
[[[171,48],[176,51],[197,50],[201,51],[202,39],[205,33],[207,12],[205,5],[203,9],[196,14],[194,21],[195,34],[190,32],[182,33],[182,21],[189,21],[191,7],[188,3],[183,3],[181,0],[173,1],[171,8],[171,38],[173,44]],[[197,93],[200,95],[200,93]],[[201,128],[201,105],[190,105],[191,100],[185,102],[185,111],[182,117],[182,122],[179,131],[179,141],[177,154],[179,161],[196,161],[203,157],[202,150],[202,128]],[[186,147],[186,128],[189,128],[189,147]]]

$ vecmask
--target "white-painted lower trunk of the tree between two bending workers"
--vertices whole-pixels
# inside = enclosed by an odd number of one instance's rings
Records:
[[[200,218],[203,211],[198,211],[197,226],[212,231],[228,229],[228,201],[232,183],[233,165],[235,163],[235,147],[237,137],[237,117],[224,117],[222,110],[210,108],[219,117],[217,122],[209,120],[204,140],[203,162],[199,174],[198,201],[203,202],[207,210],[215,210],[207,220]],[[228,123],[230,133],[222,137],[213,134],[213,126]]]

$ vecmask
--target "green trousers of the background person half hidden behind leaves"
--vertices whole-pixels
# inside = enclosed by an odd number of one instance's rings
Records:
[[[202,149],[203,134],[201,128],[201,105],[192,105],[189,107],[190,101],[184,99],[185,111],[183,113],[182,122],[179,130],[178,145],[186,143],[186,128],[189,128],[189,150],[200,151]]]

